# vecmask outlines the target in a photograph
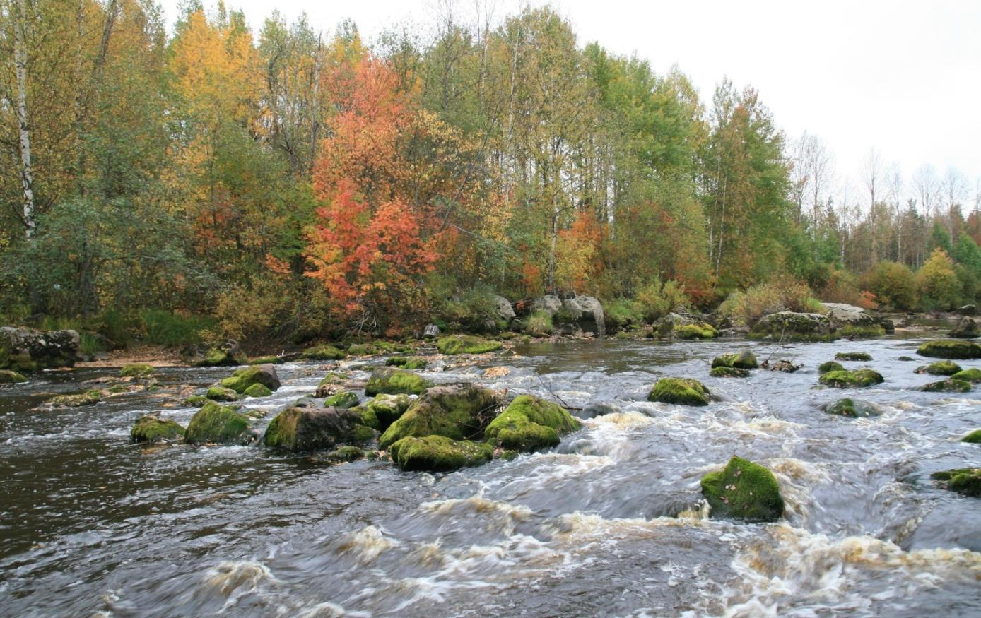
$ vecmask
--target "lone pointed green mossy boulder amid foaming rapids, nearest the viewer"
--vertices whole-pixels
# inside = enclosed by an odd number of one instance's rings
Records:
[[[730,459],[724,470],[702,477],[701,493],[713,518],[772,522],[784,514],[784,498],[773,473],[740,457]]]

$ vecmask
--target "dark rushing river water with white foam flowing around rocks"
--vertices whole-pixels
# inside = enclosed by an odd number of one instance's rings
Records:
[[[195,411],[154,393],[31,410],[115,370],[3,387],[0,614],[978,616],[981,501],[929,475],[981,466],[981,446],[958,441],[981,428],[981,394],[916,390],[937,378],[899,360],[915,344],[785,347],[774,360],[803,369],[746,380],[708,378],[708,361],[746,346],[762,360],[772,346],[537,344],[494,359],[503,376],[485,376],[490,363],[437,368],[424,373],[607,412],[553,451],[446,475],[259,447],[131,444],[141,414],[186,424]],[[841,350],[871,353],[886,383],[815,386],[817,365]],[[281,366],[284,387],[249,405],[275,410],[324,371]],[[165,386],[227,374],[158,371]],[[721,401],[646,402],[661,376],[697,378]],[[850,395],[883,414],[820,411]],[[785,521],[702,517],[699,479],[733,454],[776,473]]]

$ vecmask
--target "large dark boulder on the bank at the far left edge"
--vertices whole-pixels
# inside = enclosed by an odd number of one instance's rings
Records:
[[[79,341],[75,331],[0,328],[0,369],[31,372],[73,367]]]

